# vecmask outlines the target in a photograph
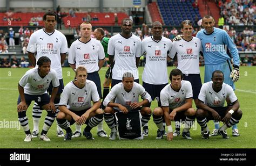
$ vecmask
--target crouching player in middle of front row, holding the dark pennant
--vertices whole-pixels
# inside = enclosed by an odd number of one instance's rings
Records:
[[[141,127],[143,127],[151,117],[151,109],[146,106],[152,101],[149,93],[146,92],[142,85],[134,82],[134,77],[131,73],[124,73],[122,79],[122,83],[114,85],[103,101],[105,106],[104,120],[111,129],[110,140],[117,138],[117,129],[114,125],[114,112],[119,111],[126,114],[132,110],[140,110],[142,114]],[[142,102],[139,102],[139,96],[142,97]],[[112,102],[113,100],[114,102]]]

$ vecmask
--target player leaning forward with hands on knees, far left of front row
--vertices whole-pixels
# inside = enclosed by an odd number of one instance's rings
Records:
[[[29,129],[29,120],[26,117],[26,110],[28,109],[32,100],[34,100],[42,109],[47,111],[44,120],[43,130],[40,139],[50,141],[47,137],[47,132],[51,127],[54,119],[56,107],[53,103],[58,91],[59,81],[55,70],[51,69],[51,60],[42,56],[37,61],[38,68],[33,68],[26,71],[18,84],[19,97],[17,102],[18,118],[21,126],[26,134],[25,142],[32,140]],[[51,97],[47,93],[50,82],[52,82],[53,89]]]

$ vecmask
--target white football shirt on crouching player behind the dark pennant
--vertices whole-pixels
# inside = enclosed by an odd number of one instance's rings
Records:
[[[117,85],[114,85],[109,94],[107,94],[103,105],[107,106],[109,102],[116,98],[114,103],[122,104],[128,110],[132,110],[130,105],[133,102],[139,102],[139,95],[142,96],[143,99],[149,100],[149,102],[152,101],[151,96],[146,92],[142,85],[134,82],[131,91],[126,92],[123,83],[118,83]],[[115,109],[119,110],[117,107]]]

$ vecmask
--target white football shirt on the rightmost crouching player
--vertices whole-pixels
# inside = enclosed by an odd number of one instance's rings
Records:
[[[212,89],[212,84],[213,82],[210,81],[202,85],[198,96],[201,102],[210,107],[220,107],[224,106],[227,97],[230,98],[231,103],[237,100],[237,96],[235,96],[234,90],[230,85],[223,83],[221,90],[217,93]]]

